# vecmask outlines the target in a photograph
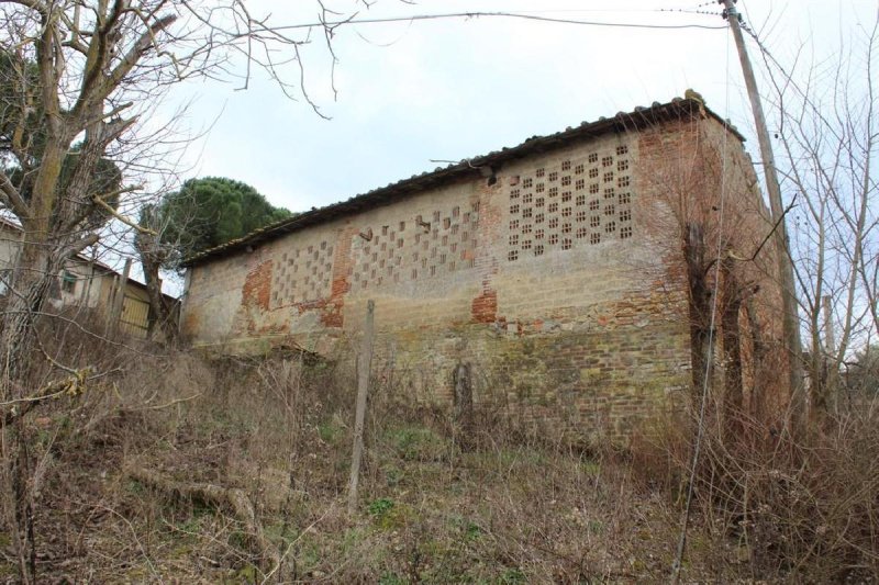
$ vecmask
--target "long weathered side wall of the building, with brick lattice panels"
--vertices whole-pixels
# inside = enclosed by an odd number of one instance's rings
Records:
[[[372,299],[379,367],[413,397],[450,403],[452,371],[468,362],[477,404],[580,437],[623,434],[689,382],[679,260],[645,233],[667,210],[641,161],[680,154],[693,127],[604,135],[201,263],[185,334],[332,352]]]

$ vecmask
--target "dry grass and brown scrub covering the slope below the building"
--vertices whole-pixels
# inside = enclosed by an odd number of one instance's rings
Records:
[[[348,515],[349,365],[293,353],[208,360],[64,335],[54,341],[65,363],[111,373],[21,419],[40,582],[668,578],[686,418],[645,427],[630,449],[583,452],[477,409],[464,445],[449,413],[376,380]],[[802,441],[750,419],[730,441],[710,423],[685,581],[879,575],[877,413],[859,404]],[[15,582],[5,506],[0,574]]]

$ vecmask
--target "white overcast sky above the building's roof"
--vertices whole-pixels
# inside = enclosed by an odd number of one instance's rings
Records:
[[[331,2],[351,11],[354,2]],[[277,24],[313,22],[316,2],[247,0]],[[815,59],[869,26],[876,0],[749,0],[739,10],[780,59],[805,46]],[[655,25],[724,26],[705,0],[377,0],[361,18],[461,11]],[[265,78],[188,83],[192,132],[185,178],[254,185],[292,211],[322,206],[533,135],[612,116],[687,88],[750,136],[741,67],[726,30],[643,30],[474,18],[346,25],[337,31],[334,100],[322,37],[303,50],[307,87],[323,120]],[[755,63],[761,66],[749,43]],[[754,143],[754,140],[750,140]],[[749,148],[756,148],[750,144]],[[755,153],[756,154],[756,153]],[[445,165],[445,164],[442,164]]]

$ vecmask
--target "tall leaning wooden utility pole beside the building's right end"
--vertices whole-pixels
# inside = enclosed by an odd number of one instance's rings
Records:
[[[745,87],[747,88],[748,98],[750,99],[750,109],[754,112],[754,123],[757,126],[757,140],[760,146],[760,158],[763,159],[766,190],[769,195],[769,207],[772,211],[774,222],[778,223],[778,228],[774,237],[776,256],[778,258],[778,279],[781,285],[785,347],[790,358],[789,383],[791,410],[794,416],[795,426],[800,427],[805,420],[802,346],[800,344],[800,317],[798,314],[797,289],[793,281],[793,262],[790,257],[788,229],[783,218],[785,204],[781,201],[781,188],[778,184],[776,159],[772,154],[772,144],[769,142],[769,131],[766,127],[766,117],[763,113],[760,94],[757,90],[757,80],[754,77],[754,68],[750,66],[750,59],[748,59],[748,54],[745,49],[745,38],[742,35],[739,14],[735,9],[736,0],[717,0],[717,2],[724,4],[725,10],[723,11],[723,15],[730,21],[730,29],[733,31],[735,46],[738,49],[738,60],[742,61],[742,74],[745,77]]]

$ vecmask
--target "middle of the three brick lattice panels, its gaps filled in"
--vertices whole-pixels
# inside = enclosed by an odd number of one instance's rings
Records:
[[[368,226],[355,236],[348,279],[354,291],[441,278],[474,267],[479,204]]]

